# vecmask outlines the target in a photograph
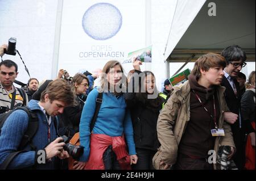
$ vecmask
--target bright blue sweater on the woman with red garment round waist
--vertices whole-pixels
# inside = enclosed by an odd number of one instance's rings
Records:
[[[84,146],[84,154],[80,161],[88,161],[90,154],[90,123],[96,108],[97,89],[88,95],[80,120],[80,142]],[[108,136],[122,136],[125,133],[129,154],[136,154],[133,139],[133,125],[131,123],[130,111],[126,110],[126,103],[123,95],[116,97],[112,93],[103,93],[98,117],[93,128],[95,134],[106,134]]]

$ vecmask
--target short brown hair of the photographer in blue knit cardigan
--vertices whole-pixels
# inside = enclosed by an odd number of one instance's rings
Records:
[[[66,106],[73,106],[75,94],[72,91],[71,85],[63,79],[56,79],[48,84],[46,90],[41,94],[40,101],[44,102],[44,95],[49,95],[49,100],[63,101]]]

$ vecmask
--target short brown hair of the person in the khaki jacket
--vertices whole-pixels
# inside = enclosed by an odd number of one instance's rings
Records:
[[[196,78],[201,77],[201,71],[208,71],[210,68],[214,66],[222,66],[222,68],[226,67],[226,61],[223,56],[216,53],[207,53],[202,56],[200,56],[194,65],[193,70],[191,71],[191,74],[196,75]]]

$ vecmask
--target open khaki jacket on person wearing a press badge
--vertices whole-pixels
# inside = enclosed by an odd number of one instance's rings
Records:
[[[163,110],[158,117],[157,132],[158,140],[161,144],[158,152],[153,158],[155,169],[163,169],[160,161],[166,164],[174,165],[177,158],[177,148],[185,128],[190,120],[190,86],[189,82],[174,87],[171,97],[167,100]],[[218,128],[223,128],[225,136],[217,136],[214,144],[214,150],[218,151],[220,145],[229,145],[234,148],[234,141],[230,125],[224,121],[224,112],[229,111],[224,98],[225,87],[219,86],[217,89],[218,102],[220,103],[220,119]],[[216,165],[214,164],[214,169]]]

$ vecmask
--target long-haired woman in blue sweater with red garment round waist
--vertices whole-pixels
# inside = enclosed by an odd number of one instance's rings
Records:
[[[109,61],[102,70],[101,87],[92,90],[85,102],[80,120],[80,142],[84,154],[77,164],[81,169],[130,169],[137,163],[133,125],[126,108],[123,91],[126,77],[118,61]],[[100,111],[90,132],[98,92],[103,91]],[[128,153],[126,149],[128,147]]]

